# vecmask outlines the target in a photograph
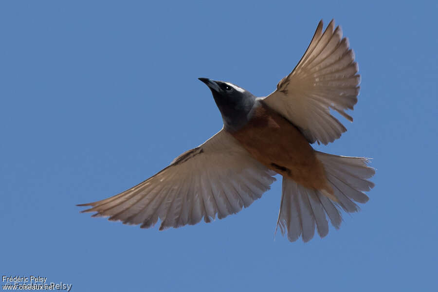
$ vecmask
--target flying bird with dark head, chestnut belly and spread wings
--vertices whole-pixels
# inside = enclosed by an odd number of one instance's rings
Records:
[[[347,129],[330,110],[352,122],[360,74],[340,26],[319,21],[293,71],[266,97],[225,81],[198,78],[210,89],[223,127],[167,167],[113,197],[78,206],[92,217],[159,230],[211,222],[249,207],[282,176],[275,227],[291,242],[339,229],[343,213],[359,211],[374,187],[370,159],[328,154]]]

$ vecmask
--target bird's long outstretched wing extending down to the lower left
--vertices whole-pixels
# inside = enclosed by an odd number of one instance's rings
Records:
[[[239,212],[261,197],[275,181],[274,172],[257,162],[225,130],[177,157],[162,171],[123,193],[82,212],[110,216],[127,224],[160,230],[210,222]]]

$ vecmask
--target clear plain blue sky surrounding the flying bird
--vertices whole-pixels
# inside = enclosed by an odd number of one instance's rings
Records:
[[[1,275],[72,291],[434,291],[436,1],[2,1]],[[198,77],[269,94],[318,21],[362,74],[354,123],[319,150],[374,158],[340,230],[277,235],[281,183],[239,214],[159,232],[79,214],[222,127]]]

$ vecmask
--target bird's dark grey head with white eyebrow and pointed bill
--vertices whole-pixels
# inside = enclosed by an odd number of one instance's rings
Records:
[[[256,103],[256,96],[230,82],[198,78],[213,93],[216,105],[222,115],[223,125],[227,130],[238,130],[248,122],[251,110]]]

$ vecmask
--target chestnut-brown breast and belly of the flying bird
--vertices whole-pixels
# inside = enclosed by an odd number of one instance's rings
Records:
[[[332,192],[324,166],[303,134],[262,101],[248,124],[231,134],[270,169],[303,186]]]

